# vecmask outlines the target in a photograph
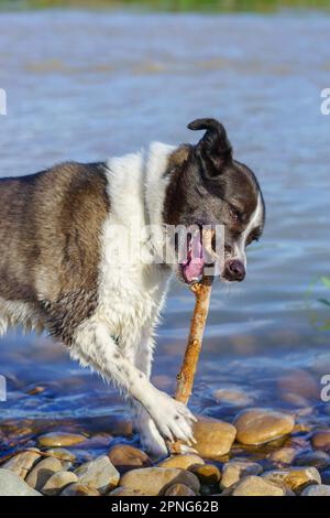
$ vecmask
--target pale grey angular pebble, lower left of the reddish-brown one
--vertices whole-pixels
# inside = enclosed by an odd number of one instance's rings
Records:
[[[118,486],[120,474],[107,455],[87,462],[75,471],[79,484],[97,489],[106,495]]]

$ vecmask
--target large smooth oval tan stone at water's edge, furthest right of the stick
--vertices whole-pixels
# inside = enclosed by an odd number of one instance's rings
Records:
[[[243,410],[235,419],[237,440],[242,444],[264,444],[290,433],[295,427],[292,416],[267,409]]]

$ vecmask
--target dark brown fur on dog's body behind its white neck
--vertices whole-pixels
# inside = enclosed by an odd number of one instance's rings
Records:
[[[29,303],[67,345],[97,304],[106,190],[103,164],[0,181],[0,298]]]

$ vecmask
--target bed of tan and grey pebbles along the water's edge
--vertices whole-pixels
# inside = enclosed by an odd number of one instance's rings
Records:
[[[82,463],[76,449],[100,438],[51,432],[0,464],[0,496],[330,496],[330,430],[299,430],[289,413],[251,408],[232,424],[199,417],[194,453],[155,462],[108,438],[107,454]]]

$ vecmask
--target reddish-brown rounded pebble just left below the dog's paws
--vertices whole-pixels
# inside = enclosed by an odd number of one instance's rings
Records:
[[[117,444],[111,447],[108,456],[121,474],[136,467],[148,467],[152,464],[146,453],[129,444]]]

